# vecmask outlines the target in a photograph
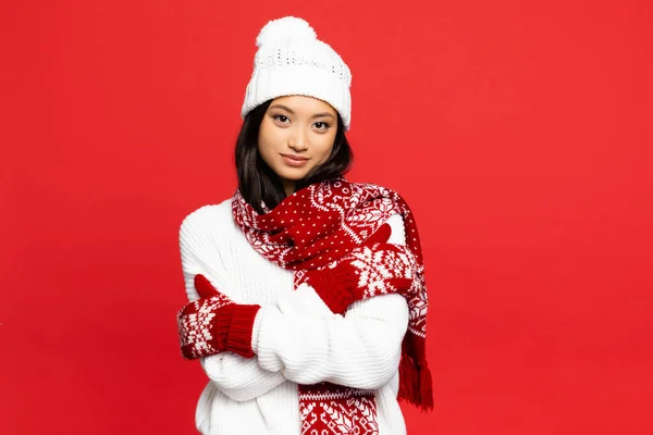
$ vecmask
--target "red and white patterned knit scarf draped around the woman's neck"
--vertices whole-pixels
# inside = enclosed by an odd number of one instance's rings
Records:
[[[347,261],[359,269],[358,284],[366,284],[356,299],[389,293],[406,297],[410,320],[402,345],[398,398],[431,409],[431,374],[424,347],[428,297],[417,226],[406,201],[391,189],[341,177],[297,190],[273,210],[262,206],[264,214],[259,214],[236,191],[232,199],[234,220],[261,256],[294,271],[295,288],[305,282],[311,284],[313,272],[331,271]],[[405,224],[406,247],[398,247],[404,254],[393,246],[386,251],[391,254],[374,256],[371,249],[380,245],[370,247],[369,240],[381,233],[390,235],[385,221],[396,213]],[[403,262],[397,262],[397,254]],[[404,274],[397,265],[406,264],[406,259],[411,266],[409,286],[398,288],[383,279],[393,272]],[[331,277],[330,293],[338,291],[336,281]],[[330,383],[298,388],[301,434],[378,434],[372,391]]]

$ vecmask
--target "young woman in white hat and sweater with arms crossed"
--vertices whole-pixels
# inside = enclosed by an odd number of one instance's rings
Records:
[[[182,352],[204,434],[404,434],[432,407],[419,236],[394,191],[344,178],[352,75],[304,20],[268,23],[236,142],[238,189],[180,231]]]

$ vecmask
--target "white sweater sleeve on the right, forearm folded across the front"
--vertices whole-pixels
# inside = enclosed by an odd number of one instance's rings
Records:
[[[405,245],[402,217],[394,215],[389,224],[389,241]],[[303,286],[297,291],[315,294]],[[345,315],[316,316],[267,306],[255,321],[252,349],[261,368],[299,384],[375,389],[396,374],[408,318],[406,299],[396,294],[357,301]]]

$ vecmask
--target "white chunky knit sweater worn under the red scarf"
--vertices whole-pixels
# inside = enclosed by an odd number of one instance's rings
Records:
[[[404,223],[389,220],[394,244],[405,244]],[[374,390],[381,435],[406,433],[397,403],[398,363],[408,326],[403,296],[377,296],[333,314],[293,272],[261,257],[232,216],[231,199],[186,216],[180,229],[188,299],[198,299],[194,276],[204,274],[238,303],[261,306],[251,340],[255,358],[222,352],[201,359],[209,383],[199,397],[202,434],[300,433],[297,384],[331,382]]]

